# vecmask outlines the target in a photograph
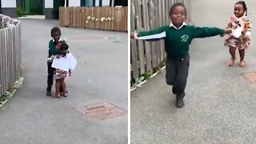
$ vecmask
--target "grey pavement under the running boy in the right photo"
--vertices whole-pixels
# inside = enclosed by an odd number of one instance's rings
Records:
[[[255,24],[255,1],[247,0]],[[192,23],[226,26],[234,1],[193,0]],[[246,50],[246,68],[228,67],[228,49],[220,37],[198,39],[190,47],[186,106],[177,109],[165,71],[131,93],[131,143],[256,143],[256,86],[240,74],[256,70],[255,30]]]

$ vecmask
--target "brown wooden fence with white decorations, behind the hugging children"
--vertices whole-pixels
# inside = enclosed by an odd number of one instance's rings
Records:
[[[126,32],[128,31],[128,7],[60,7],[59,25]]]

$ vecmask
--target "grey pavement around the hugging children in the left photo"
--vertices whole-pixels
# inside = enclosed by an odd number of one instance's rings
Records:
[[[95,121],[75,110],[97,102],[127,110],[127,33],[61,28],[78,66],[66,80],[69,96],[58,99],[46,96],[46,58],[53,26],[58,22],[22,19],[25,81],[0,109],[0,143],[127,143],[127,115]],[[79,42],[74,41],[81,35]]]

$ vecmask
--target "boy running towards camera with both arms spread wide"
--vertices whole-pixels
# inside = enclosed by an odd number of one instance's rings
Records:
[[[166,83],[173,86],[176,94],[176,106],[183,107],[186,79],[189,74],[190,55],[189,46],[194,38],[213,37],[221,34],[230,34],[231,29],[218,29],[216,27],[187,26],[186,7],[178,2],[170,8],[170,26],[162,26],[156,30],[131,34],[130,38],[145,40],[165,40]]]

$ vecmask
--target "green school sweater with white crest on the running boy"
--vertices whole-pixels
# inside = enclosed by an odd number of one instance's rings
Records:
[[[162,38],[165,41],[167,58],[185,58],[189,52],[190,43],[194,38],[206,38],[224,34],[224,30],[216,27],[182,26],[181,29],[177,30],[173,26],[162,26],[155,30],[139,32],[138,37],[161,34],[162,32],[166,32],[166,37]],[[154,38],[147,39],[152,40]]]

